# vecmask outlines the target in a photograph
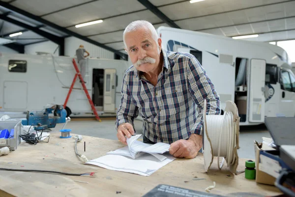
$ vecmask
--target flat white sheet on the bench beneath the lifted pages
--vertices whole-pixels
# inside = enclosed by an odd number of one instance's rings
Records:
[[[176,158],[169,153],[164,153],[166,159],[159,161],[152,155],[144,154],[139,158],[131,159],[121,155],[106,155],[91,160],[86,164],[97,165],[111,170],[130,172],[143,176],[149,176],[166,164],[169,164]]]

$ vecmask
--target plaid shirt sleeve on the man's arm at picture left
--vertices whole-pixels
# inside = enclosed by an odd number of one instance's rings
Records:
[[[121,102],[117,112],[116,130],[118,126],[123,123],[130,123],[133,128],[133,120],[138,116],[138,107],[132,101],[128,90],[129,75],[125,73],[121,89]]]

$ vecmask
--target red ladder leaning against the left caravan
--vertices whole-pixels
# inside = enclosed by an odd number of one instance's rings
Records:
[[[79,68],[78,68],[78,66],[77,66],[76,61],[75,61],[74,58],[73,58],[73,65],[74,65],[75,70],[76,70],[77,73],[75,74],[74,80],[73,80],[72,85],[71,85],[71,87],[70,87],[69,93],[68,93],[68,95],[66,96],[66,99],[65,99],[65,101],[64,101],[63,107],[65,108],[66,103],[67,103],[67,101],[69,100],[70,95],[71,95],[71,92],[72,92],[73,87],[74,87],[74,85],[75,85],[75,82],[76,82],[77,76],[79,76],[80,81],[81,81],[81,84],[82,84],[82,86],[83,86],[83,90],[84,90],[84,92],[85,92],[85,94],[86,94],[86,96],[87,96],[87,99],[88,99],[88,101],[89,101],[89,103],[90,103],[91,109],[92,109],[92,111],[93,111],[93,113],[94,113],[94,115],[95,115],[95,119],[98,120],[99,122],[101,122],[101,120],[100,120],[100,118],[99,118],[99,116],[98,116],[98,114],[97,114],[97,112],[96,112],[96,109],[95,109],[95,107],[94,107],[94,104],[93,104],[92,100],[90,99],[90,96],[89,96],[89,94],[88,94],[87,88],[86,88],[85,83],[84,83],[84,79],[82,78],[82,75],[81,75],[81,73],[80,73],[80,70],[79,70]]]

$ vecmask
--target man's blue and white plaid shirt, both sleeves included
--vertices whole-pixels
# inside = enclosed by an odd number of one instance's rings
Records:
[[[207,114],[220,114],[219,96],[206,71],[191,54],[162,49],[163,69],[153,86],[134,66],[126,70],[116,130],[139,114],[144,135],[153,142],[173,143],[203,134],[203,107]],[[198,116],[198,113],[199,116]],[[134,125],[133,125],[134,128]]]

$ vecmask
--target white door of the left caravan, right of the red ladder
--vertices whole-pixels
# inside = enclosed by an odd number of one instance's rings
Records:
[[[104,70],[103,111],[115,113],[116,69]]]

